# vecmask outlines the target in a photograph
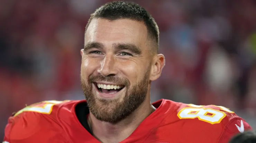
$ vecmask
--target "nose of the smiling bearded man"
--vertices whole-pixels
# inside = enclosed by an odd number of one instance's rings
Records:
[[[112,55],[106,55],[104,59],[100,63],[100,68],[98,69],[98,73],[101,75],[115,76],[117,74],[117,68],[115,68],[115,58]]]

